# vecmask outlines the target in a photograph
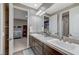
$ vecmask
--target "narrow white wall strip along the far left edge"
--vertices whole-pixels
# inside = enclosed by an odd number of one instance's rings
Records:
[[[0,3],[0,54],[4,54],[3,4]]]

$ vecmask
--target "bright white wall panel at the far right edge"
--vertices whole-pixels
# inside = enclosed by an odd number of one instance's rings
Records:
[[[79,6],[69,10],[70,13],[70,34],[79,37]]]

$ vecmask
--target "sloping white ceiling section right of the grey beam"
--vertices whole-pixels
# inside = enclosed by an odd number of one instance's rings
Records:
[[[53,14],[59,10],[62,10],[68,6],[73,5],[74,3],[55,3],[50,8],[47,9],[48,14]]]

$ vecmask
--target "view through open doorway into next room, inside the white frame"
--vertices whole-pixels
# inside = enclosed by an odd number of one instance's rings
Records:
[[[14,8],[14,53],[27,48],[27,13]]]

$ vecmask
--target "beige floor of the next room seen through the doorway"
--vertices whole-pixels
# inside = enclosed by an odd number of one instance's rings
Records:
[[[21,38],[21,39],[14,39],[14,51],[21,51],[26,49],[27,47],[27,39]]]

